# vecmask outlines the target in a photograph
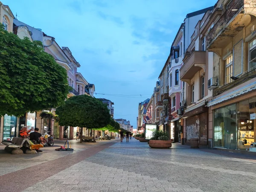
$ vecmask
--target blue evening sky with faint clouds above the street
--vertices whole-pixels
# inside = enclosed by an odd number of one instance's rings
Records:
[[[150,98],[187,13],[217,0],[1,0],[17,19],[69,47],[114,117],[137,127],[138,103]]]

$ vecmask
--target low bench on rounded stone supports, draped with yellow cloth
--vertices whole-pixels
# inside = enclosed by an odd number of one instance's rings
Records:
[[[2,143],[6,145],[5,150],[11,152],[12,154],[34,154],[36,152],[33,149],[44,147],[41,144],[35,145],[30,142],[29,139],[24,139],[21,137],[13,137],[11,142]]]

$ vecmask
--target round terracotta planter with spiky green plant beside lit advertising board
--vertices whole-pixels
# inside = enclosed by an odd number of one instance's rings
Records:
[[[172,147],[172,140],[169,140],[166,132],[156,130],[153,131],[148,144],[151,148],[170,148]]]

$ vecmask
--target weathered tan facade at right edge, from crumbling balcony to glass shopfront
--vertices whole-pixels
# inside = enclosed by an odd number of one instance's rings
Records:
[[[213,147],[256,151],[256,2],[218,0],[206,35],[214,52],[209,139]]]

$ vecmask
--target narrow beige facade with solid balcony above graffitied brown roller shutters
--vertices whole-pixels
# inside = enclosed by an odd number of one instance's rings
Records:
[[[209,132],[212,122],[209,120],[207,102],[212,99],[212,91],[208,90],[207,80],[212,79],[213,55],[206,49],[206,35],[208,33],[208,10],[195,26],[191,43],[183,57],[183,66],[180,68],[180,79],[186,82],[186,108],[183,113],[183,143],[189,144],[191,139],[198,139],[201,147],[208,147],[211,139]],[[211,136],[210,136],[211,137]],[[209,139],[209,142],[208,142]]]

